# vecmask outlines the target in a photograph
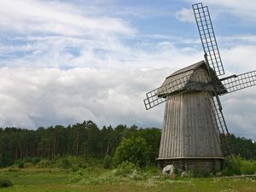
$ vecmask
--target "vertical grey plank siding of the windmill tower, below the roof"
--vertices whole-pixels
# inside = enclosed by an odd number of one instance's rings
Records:
[[[207,96],[204,91],[194,91],[166,102],[159,159],[223,157],[217,123],[208,109],[212,106],[207,99],[212,99],[212,95]]]

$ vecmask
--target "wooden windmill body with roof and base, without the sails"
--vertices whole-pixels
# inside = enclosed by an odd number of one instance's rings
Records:
[[[212,81],[205,61],[172,73],[162,86],[188,75],[188,80],[178,89],[188,91],[174,97],[172,94],[177,91],[175,89],[164,92],[164,95],[161,92],[167,101],[158,160],[161,166],[172,164],[180,169],[193,166],[194,170],[218,171],[223,154],[219,144],[218,124],[211,110],[214,88],[212,84],[199,86]]]

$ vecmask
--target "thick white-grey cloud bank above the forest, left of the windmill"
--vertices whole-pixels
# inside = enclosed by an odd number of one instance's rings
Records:
[[[35,128],[92,119],[102,125],[160,125],[162,108],[147,112],[145,92],[166,69],[1,68],[1,126]]]

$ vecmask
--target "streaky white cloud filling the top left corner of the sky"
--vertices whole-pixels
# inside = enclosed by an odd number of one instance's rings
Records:
[[[84,15],[72,4],[60,2],[0,1],[0,20],[1,31],[15,30],[23,34],[43,32],[105,38],[111,33],[134,33],[123,20]]]

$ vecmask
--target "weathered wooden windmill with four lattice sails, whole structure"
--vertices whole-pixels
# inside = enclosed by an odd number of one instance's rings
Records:
[[[224,77],[224,67],[207,6],[192,5],[204,61],[178,70],[146,94],[148,110],[166,102],[160,141],[160,166],[180,170],[221,170],[230,148],[223,136],[230,133],[219,96],[256,84],[256,71]]]

